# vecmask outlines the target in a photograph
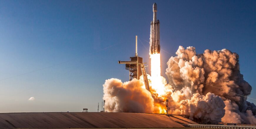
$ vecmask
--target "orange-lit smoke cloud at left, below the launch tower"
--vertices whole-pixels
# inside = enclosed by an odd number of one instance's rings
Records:
[[[109,112],[153,112],[154,99],[142,86],[144,83],[137,79],[124,83],[114,78],[106,80],[103,85],[105,109]]]

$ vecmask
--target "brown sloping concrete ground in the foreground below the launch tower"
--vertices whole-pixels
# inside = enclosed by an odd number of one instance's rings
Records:
[[[166,115],[145,113],[0,113],[0,128],[177,128]]]

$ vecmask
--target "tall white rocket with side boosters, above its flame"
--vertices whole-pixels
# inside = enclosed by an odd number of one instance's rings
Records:
[[[153,4],[154,17],[151,21],[150,54],[160,53],[160,22],[157,20],[157,4]]]

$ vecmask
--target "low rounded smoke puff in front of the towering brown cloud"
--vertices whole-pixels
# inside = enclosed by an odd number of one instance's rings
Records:
[[[200,118],[205,123],[218,123],[225,114],[223,109],[225,104],[222,99],[210,92],[205,96],[196,93],[190,100],[182,100],[179,103],[180,114],[187,115],[190,119]]]

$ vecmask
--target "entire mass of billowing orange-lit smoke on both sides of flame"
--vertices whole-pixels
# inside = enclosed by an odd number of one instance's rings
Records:
[[[236,53],[223,49],[196,54],[195,47],[179,46],[176,54],[167,62],[169,83],[161,76],[164,94],[159,95],[151,81],[152,94],[147,91],[143,77],[124,83],[108,79],[103,85],[105,109],[165,113],[164,101],[169,99],[170,114],[184,114],[204,123],[256,124],[256,106],[244,97],[250,94],[252,87],[240,74]],[[148,79],[152,80],[150,75]]]

